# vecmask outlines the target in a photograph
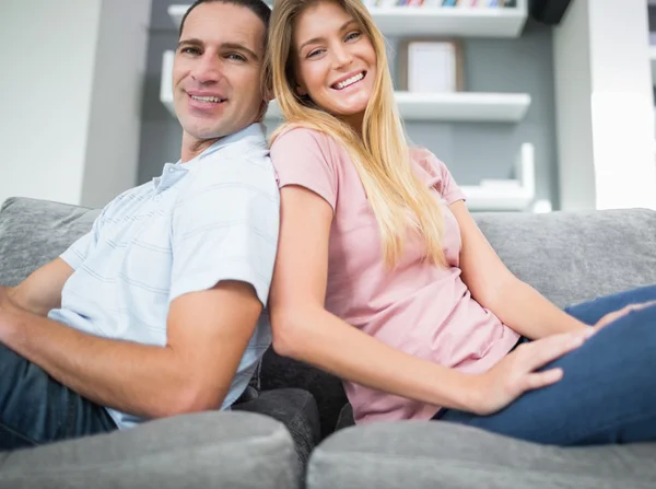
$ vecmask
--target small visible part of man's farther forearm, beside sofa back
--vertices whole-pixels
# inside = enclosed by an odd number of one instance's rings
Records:
[[[61,306],[61,290],[73,269],[61,258],[33,271],[19,286],[7,288],[12,302],[25,311],[46,316],[50,310]]]

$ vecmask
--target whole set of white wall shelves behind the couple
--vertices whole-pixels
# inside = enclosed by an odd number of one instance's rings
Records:
[[[188,4],[168,7],[168,14],[179,27]],[[371,8],[372,15],[386,36],[457,36],[518,37],[528,18],[527,0],[516,8]],[[160,97],[168,110],[173,107],[171,85],[173,51],[164,53]],[[526,93],[410,93],[397,92],[401,117],[407,121],[484,121],[518,123],[531,103]],[[280,120],[276,101],[269,105],[266,118]],[[512,179],[482,181],[480,185],[461,186],[468,207],[475,211],[526,211],[536,207],[535,149],[524,143],[514,165]],[[539,203],[539,202],[538,202]],[[542,206],[543,207],[543,206]],[[536,208],[537,210],[537,208]]]

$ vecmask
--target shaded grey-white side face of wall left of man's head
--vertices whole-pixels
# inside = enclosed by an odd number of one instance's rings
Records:
[[[83,206],[102,207],[137,183],[150,9],[151,0],[103,1]]]

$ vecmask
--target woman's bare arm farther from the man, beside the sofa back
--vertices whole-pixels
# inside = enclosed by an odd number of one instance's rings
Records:
[[[483,307],[530,339],[588,328],[515,277],[488,243],[462,200],[449,206],[460,226],[462,281]]]

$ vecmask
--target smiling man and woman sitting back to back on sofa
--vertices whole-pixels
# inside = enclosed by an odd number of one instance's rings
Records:
[[[360,0],[196,2],[174,101],[180,160],[0,290],[0,447],[229,409],[271,341],[343,379],[358,423],[656,440],[656,288],[563,311],[513,276],[408,144]]]

